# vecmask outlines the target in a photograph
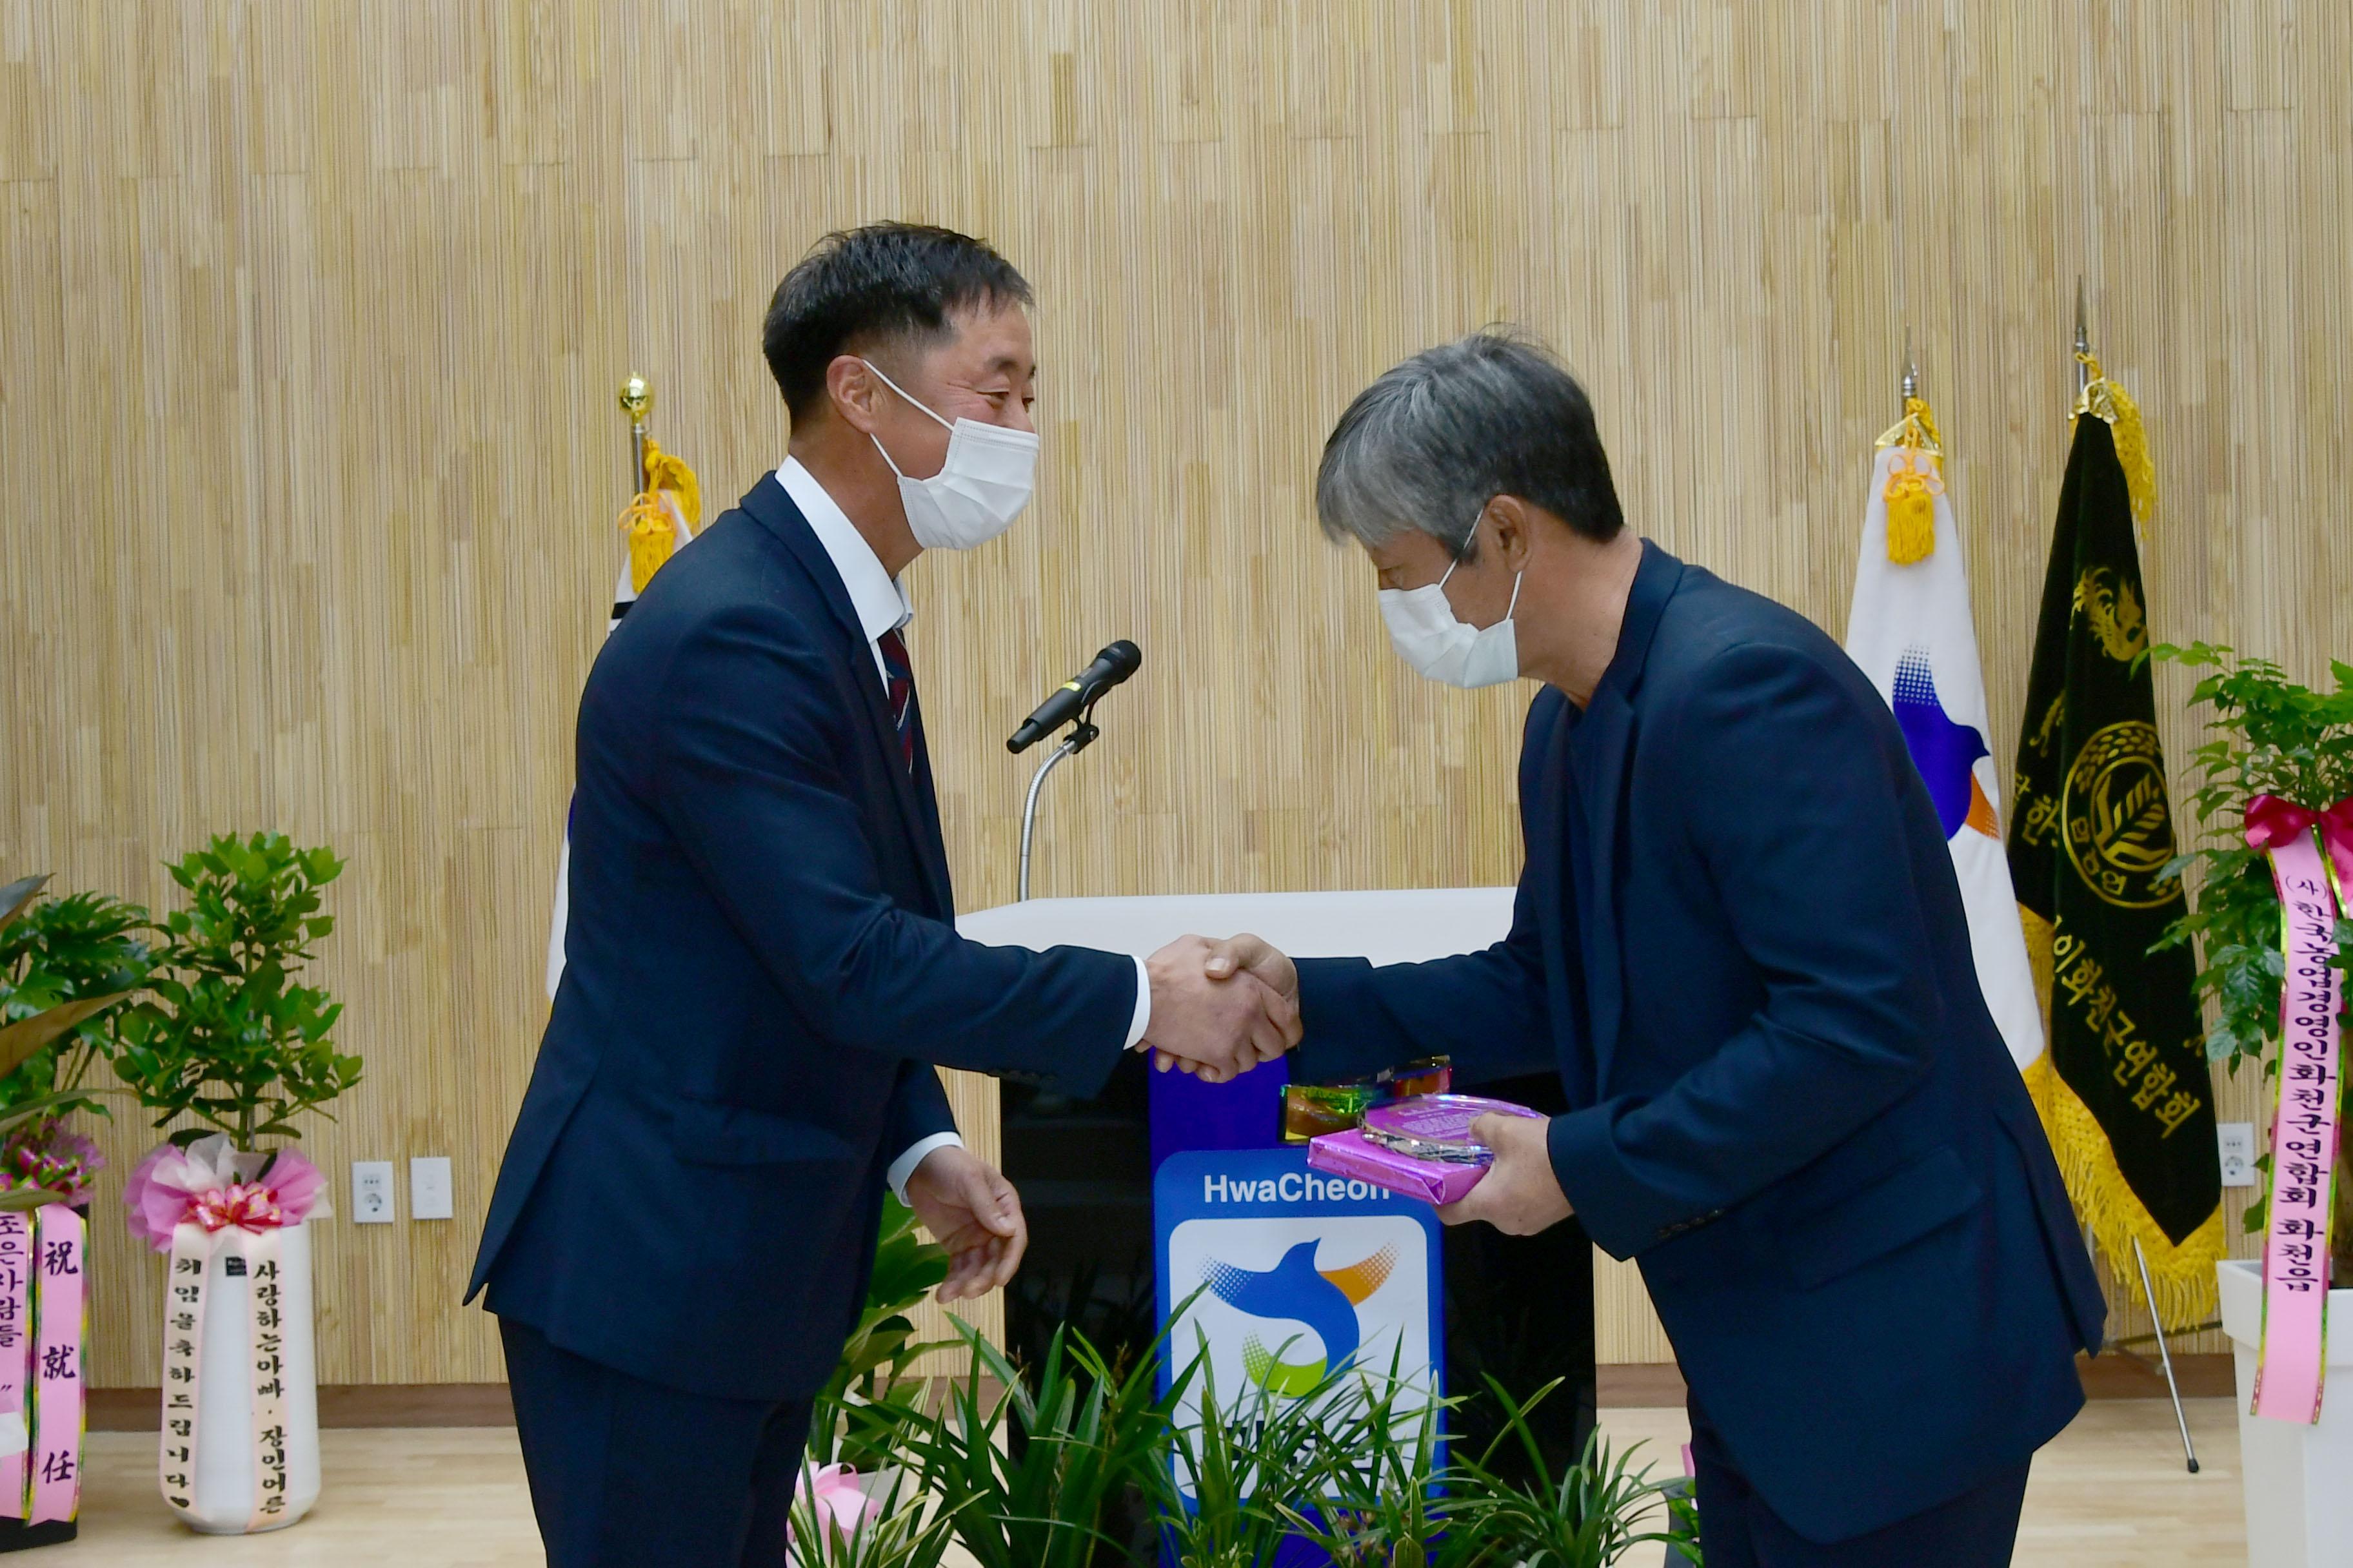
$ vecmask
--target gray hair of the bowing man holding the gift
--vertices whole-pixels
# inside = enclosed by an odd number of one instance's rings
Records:
[[[1626,527],[1586,388],[1508,327],[1426,348],[1367,386],[1315,470],[1315,517],[1334,543],[1421,531],[1468,559],[1497,496],[1595,541]]]

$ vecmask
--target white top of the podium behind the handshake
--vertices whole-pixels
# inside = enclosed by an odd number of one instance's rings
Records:
[[[1511,931],[1513,889],[1372,893],[1162,893],[1031,898],[962,914],[955,929],[998,947],[1106,947],[1151,957],[1179,936],[1254,931],[1299,959],[1405,964],[1475,952]]]

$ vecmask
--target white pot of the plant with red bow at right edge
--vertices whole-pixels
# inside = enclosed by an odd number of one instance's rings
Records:
[[[2221,1328],[2238,1366],[2240,1486],[2247,1568],[2353,1568],[2353,1291],[2329,1291],[2329,1361],[2320,1420],[2249,1415],[2264,1342],[2264,1265],[2217,1265]]]

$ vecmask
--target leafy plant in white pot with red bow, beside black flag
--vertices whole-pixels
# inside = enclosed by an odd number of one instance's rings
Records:
[[[2353,978],[2353,665],[2332,663],[2337,689],[2313,691],[2226,646],[2151,656],[2205,670],[2191,696],[2212,715],[2212,738],[2191,752],[2207,846],[2167,867],[2202,877],[2160,945],[2198,943],[2207,1056],[2228,1072],[2261,1063],[2275,1084],[2264,1187],[2247,1211],[2247,1229],[2268,1232],[2264,1262],[2219,1265],[2247,1549],[2257,1563],[2318,1561],[2315,1530],[2334,1514],[2313,1512],[2322,1497],[2306,1474],[2353,1465],[2353,1410],[2341,1389],[2320,1399],[2325,1363],[2339,1382],[2353,1373],[2346,1338],[2322,1333],[2327,1314],[2353,1312],[2353,1180],[2337,1117]]]

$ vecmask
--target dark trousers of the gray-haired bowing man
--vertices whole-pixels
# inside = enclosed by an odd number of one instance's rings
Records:
[[[1788,1528],[1748,1486],[1706,1413],[1692,1403],[1699,1559],[1706,1568],[2002,1568],[2019,1540],[2026,1465],[1892,1526],[1819,1544]]]

